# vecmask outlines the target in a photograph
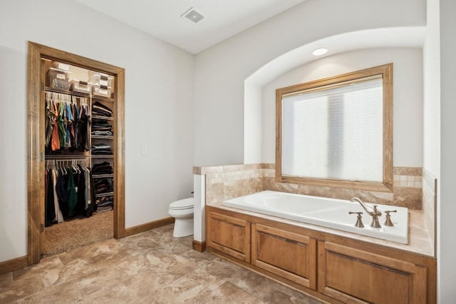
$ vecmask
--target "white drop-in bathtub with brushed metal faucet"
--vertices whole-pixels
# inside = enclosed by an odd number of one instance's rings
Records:
[[[303,196],[299,194],[276,191],[262,191],[259,193],[241,196],[223,202],[224,206],[254,211],[288,218],[294,221],[310,223],[318,226],[344,230],[352,233],[393,240],[399,243],[408,243],[408,208],[376,204],[381,211],[381,228],[371,227],[371,216],[363,210],[359,203],[338,200],[335,198],[321,198],[317,196]],[[373,203],[366,203],[372,207]],[[391,214],[394,226],[385,226],[385,211],[397,210]],[[363,211],[364,228],[355,226],[356,214],[348,211]]]

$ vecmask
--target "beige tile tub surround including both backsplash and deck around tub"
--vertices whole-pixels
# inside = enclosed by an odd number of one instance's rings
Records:
[[[343,188],[311,187],[298,184],[276,183],[274,168],[274,163],[194,167],[193,173],[206,176],[205,199],[206,205],[211,206],[221,206],[222,201],[230,198],[236,198],[264,190],[272,190],[346,200],[353,198],[353,196],[358,196],[363,199],[363,201],[370,203],[407,207],[410,211],[410,235],[408,245],[379,240],[377,238],[363,237],[362,235],[353,233],[344,233],[343,235],[351,238],[362,237],[363,240],[371,243],[383,244],[423,255],[435,256],[435,244],[433,243],[435,240],[430,237],[429,231],[427,230],[427,226],[431,226],[432,223],[435,222],[435,213],[433,210],[429,210],[430,208],[425,208],[424,211],[422,210],[421,200],[424,182],[418,181],[418,178],[422,178],[422,168],[395,167],[393,170],[396,181],[394,193],[353,191],[351,189]],[[407,181],[407,183],[405,184],[403,182],[402,184],[398,184],[397,181],[400,183],[401,180]],[[239,209],[236,209],[236,211],[239,211]],[[256,213],[256,215],[258,216],[258,213]],[[296,221],[291,221],[291,223],[296,225],[307,225]],[[320,228],[319,226],[312,227]],[[336,230],[326,230],[328,233],[333,233],[334,231]]]

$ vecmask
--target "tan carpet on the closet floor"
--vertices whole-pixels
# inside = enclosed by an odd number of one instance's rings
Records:
[[[114,211],[93,213],[89,218],[75,218],[44,228],[43,255],[63,253],[113,237]]]

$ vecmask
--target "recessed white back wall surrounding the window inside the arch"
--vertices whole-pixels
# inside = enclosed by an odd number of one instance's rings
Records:
[[[421,49],[363,49],[299,66],[264,86],[264,163],[275,163],[276,88],[393,63],[393,164],[423,166],[423,56]]]

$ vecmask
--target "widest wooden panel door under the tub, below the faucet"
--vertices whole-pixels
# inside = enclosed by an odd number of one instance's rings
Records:
[[[320,241],[318,291],[345,303],[426,303],[426,268]]]

